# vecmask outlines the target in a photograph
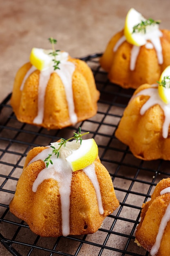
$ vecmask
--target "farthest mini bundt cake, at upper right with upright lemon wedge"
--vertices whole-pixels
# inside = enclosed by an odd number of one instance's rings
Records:
[[[134,15],[132,17],[134,20],[135,16],[141,15],[133,8],[129,12]],[[141,19],[146,20],[142,16]],[[133,27],[131,28],[131,34],[142,35],[143,33],[141,39],[145,39],[145,42],[142,42],[140,46],[136,42],[132,44],[133,40],[129,40],[129,34],[126,35],[129,29],[127,21],[125,22],[126,29],[111,38],[100,58],[100,65],[108,72],[108,79],[111,82],[123,88],[135,89],[144,83],[156,83],[161,72],[170,65],[170,31],[159,30],[158,26],[158,24],[152,26],[155,27],[154,31],[150,31],[151,26],[146,26],[146,33],[134,31]]]

